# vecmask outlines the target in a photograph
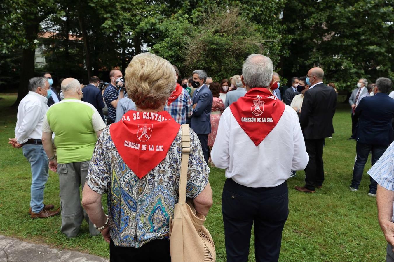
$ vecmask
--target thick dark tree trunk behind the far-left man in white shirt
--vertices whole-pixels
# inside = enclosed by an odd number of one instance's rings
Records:
[[[32,43],[35,39],[37,39],[39,24],[39,22],[30,21],[30,23],[26,25],[26,39],[29,43]],[[22,98],[28,93],[29,79],[34,77],[34,56],[35,49],[22,49],[22,64],[20,70],[18,97],[17,101],[15,101],[12,106],[17,107]]]

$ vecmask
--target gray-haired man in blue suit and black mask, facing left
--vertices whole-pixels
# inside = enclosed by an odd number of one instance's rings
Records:
[[[193,114],[191,115],[190,127],[200,139],[204,159],[208,163],[208,134],[211,132],[213,95],[205,84],[206,77],[204,70],[193,71],[191,85],[197,89],[193,93]]]

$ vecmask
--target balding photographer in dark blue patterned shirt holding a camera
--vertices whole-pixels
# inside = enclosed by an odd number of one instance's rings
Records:
[[[119,100],[125,96],[125,81],[122,72],[117,69],[111,70],[110,79],[111,83],[104,91],[104,101],[108,107],[108,125],[115,123],[116,106]]]

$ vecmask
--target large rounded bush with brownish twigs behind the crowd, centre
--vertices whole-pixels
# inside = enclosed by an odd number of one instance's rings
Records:
[[[240,74],[243,61],[252,53],[269,55],[274,63],[279,62],[281,51],[269,46],[275,41],[276,31],[263,35],[262,27],[241,16],[237,7],[216,7],[204,16],[183,13],[165,20],[163,39],[152,47],[152,52],[179,66],[183,75],[204,69],[220,81]],[[197,22],[193,23],[196,16]]]

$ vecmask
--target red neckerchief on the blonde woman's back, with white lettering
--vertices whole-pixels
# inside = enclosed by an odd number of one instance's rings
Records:
[[[165,158],[179,128],[166,111],[130,110],[110,126],[110,133],[123,161],[143,178]]]

